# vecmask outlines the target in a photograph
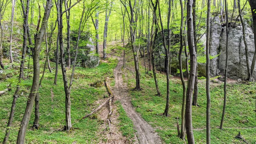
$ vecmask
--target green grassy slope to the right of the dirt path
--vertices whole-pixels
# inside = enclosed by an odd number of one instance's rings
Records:
[[[132,53],[127,53],[127,66],[134,67]],[[143,61],[140,62],[141,65]],[[161,97],[155,96],[154,78],[145,74],[144,67],[141,70],[142,91],[130,91],[132,104],[142,117],[155,127],[163,141],[166,143],[184,143],[177,137],[176,119],[181,117],[182,105],[182,85],[180,79],[171,79],[170,83],[170,117],[160,115],[163,113],[166,104],[166,76],[157,74]],[[135,86],[135,74],[125,70],[123,78],[128,83],[129,88]],[[196,143],[206,143],[206,92],[205,81],[198,84],[198,102],[201,107],[192,109],[192,119],[194,136]],[[255,83],[228,84],[227,85],[227,107],[224,122],[224,131],[218,129],[221,121],[223,108],[223,84],[211,85],[211,142],[220,143],[243,143],[234,137],[241,131],[243,138],[249,143],[256,143],[256,123],[255,123]],[[250,94],[250,92],[252,94]],[[242,124],[239,120],[248,120]],[[181,119],[179,119],[181,124]],[[181,127],[181,126],[180,126]]]

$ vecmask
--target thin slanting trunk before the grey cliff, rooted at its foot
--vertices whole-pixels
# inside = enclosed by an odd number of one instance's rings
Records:
[[[249,67],[249,58],[248,58],[248,46],[247,46],[247,42],[246,42],[246,37],[245,37],[245,25],[243,22],[243,16],[241,13],[241,6],[240,6],[240,0],[238,0],[238,11],[239,11],[239,16],[240,16],[240,20],[241,20],[241,24],[242,24],[242,29],[243,29],[243,42],[244,42],[244,46],[245,46],[245,57],[246,57],[246,67],[247,67],[247,79],[248,81],[252,81],[252,75],[250,72],[250,67]]]

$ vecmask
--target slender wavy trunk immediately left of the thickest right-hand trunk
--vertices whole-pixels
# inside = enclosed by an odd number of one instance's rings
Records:
[[[180,48],[179,48],[179,73],[180,79],[182,82],[183,95],[182,95],[182,109],[181,109],[181,133],[180,138],[185,140],[185,103],[186,103],[186,83],[184,81],[183,72],[182,72],[182,50],[183,50],[183,21],[184,21],[184,10],[183,10],[183,2],[180,2],[181,8],[181,20],[180,20]]]

